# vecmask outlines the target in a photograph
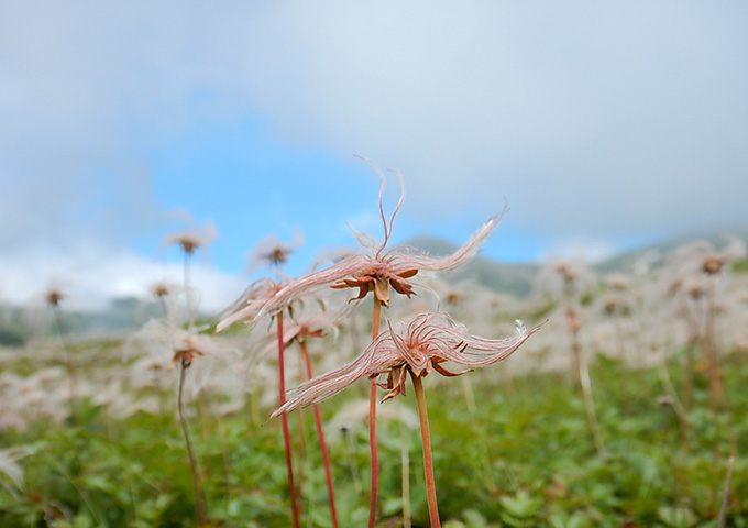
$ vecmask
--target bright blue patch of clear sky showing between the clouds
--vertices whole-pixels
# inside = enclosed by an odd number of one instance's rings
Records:
[[[267,129],[248,120],[235,129],[199,128],[179,136],[169,145],[160,145],[151,154],[154,190],[167,209],[184,208],[196,221],[210,219],[220,227],[219,239],[211,244],[210,260],[227,271],[239,272],[244,256],[258,235],[276,234],[289,242],[296,231],[305,238],[292,262],[289,273],[299,274],[315,260],[316,252],[328,245],[355,246],[349,224],[381,239],[378,191],[381,179],[374,167],[351,155],[340,158],[320,148],[289,145],[274,139]],[[397,175],[385,170],[385,212],[389,215],[399,196]],[[504,208],[498,197],[494,209],[483,215],[448,211],[435,217],[451,220],[431,226],[408,211],[406,201],[396,219],[394,242],[418,234],[438,234],[462,243],[492,215]],[[180,185],[175,185],[180,182]],[[507,222],[512,223],[507,216]],[[505,230],[506,231],[506,230]],[[498,231],[492,256],[513,261],[537,258],[543,250],[542,237],[530,240]],[[231,243],[222,243],[229,240]],[[503,243],[502,243],[503,242]],[[140,240],[139,251],[147,253],[158,244],[153,237]],[[172,256],[178,258],[173,249]]]

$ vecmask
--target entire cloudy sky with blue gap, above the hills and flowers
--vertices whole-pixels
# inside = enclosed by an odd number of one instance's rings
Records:
[[[176,1],[0,8],[0,297],[61,282],[81,306],[176,273],[182,208],[219,238],[218,306],[263,237],[346,222],[487,256],[590,257],[748,220],[743,3]],[[388,173],[389,174],[389,173]],[[394,176],[394,175],[393,175]],[[398,198],[391,178],[386,208]],[[91,299],[96,299],[94,302]],[[230,299],[229,299],[230,300]]]

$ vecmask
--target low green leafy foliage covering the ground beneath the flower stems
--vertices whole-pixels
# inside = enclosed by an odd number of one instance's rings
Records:
[[[443,526],[716,526],[730,422],[739,440],[725,526],[748,526],[748,458],[743,454],[748,452],[744,395],[748,361],[728,360],[724,372],[728,398],[735,403],[732,421],[723,416],[715,424],[708,386],[697,383],[688,451],[672,408],[658,403],[663,388],[657,372],[598,360],[592,375],[598,387],[605,460],[596,455],[587,433],[581,397],[559,374],[528,375],[510,383],[475,376],[480,383],[473,384],[479,403],[474,414],[468,410],[460,383],[429,376],[425,386]],[[670,365],[676,386],[682,383],[679,365]],[[354,397],[351,391],[326,402],[323,419]],[[402,403],[414,405],[410,392]],[[32,424],[23,433],[1,431],[0,449],[28,446],[30,454],[18,461],[24,472],[22,485],[0,486],[0,526],[196,526],[185,446],[174,409],[166,407],[164,415],[139,411],[118,419],[107,407],[84,400],[67,424]],[[248,417],[249,410],[242,410],[190,418],[209,517],[213,526],[290,526],[279,424],[255,427]],[[302,515],[305,526],[329,527],[324,475],[310,418],[311,413],[304,410],[300,419],[293,415],[289,420],[299,453]],[[410,454],[413,526],[428,526],[420,437],[417,430],[405,431],[403,437],[395,421],[378,425],[382,526],[388,520],[398,526],[402,517],[403,441]],[[330,431],[329,443],[341,526],[364,526],[367,431],[352,429],[350,442],[334,432]],[[363,491],[353,485],[352,468]]]

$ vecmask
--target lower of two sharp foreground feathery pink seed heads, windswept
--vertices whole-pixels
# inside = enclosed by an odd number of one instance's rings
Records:
[[[400,324],[399,332],[395,332],[389,326],[389,330],[382,332],[363,354],[348,365],[295,388],[288,402],[273,413],[273,416],[319,403],[363,377],[375,378],[384,374],[387,375],[383,385],[388,389],[384,397],[386,400],[405,394],[405,377],[408,372],[419,377],[433,371],[443,376],[464,374],[473,367],[486,366],[508,358],[538,328],[527,330],[521,321],[517,321],[516,336],[492,340],[471,336],[464,326],[455,323],[447,314],[422,314],[411,322]],[[448,361],[469,369],[449,371],[442,364]]]

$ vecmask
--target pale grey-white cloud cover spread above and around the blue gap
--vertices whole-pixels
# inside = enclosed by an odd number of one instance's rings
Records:
[[[745,218],[747,9],[15,2],[0,19],[8,270],[142,232],[160,212],[147,152],[248,114],[402,169],[404,213],[427,221],[480,224],[505,198],[559,240]]]

